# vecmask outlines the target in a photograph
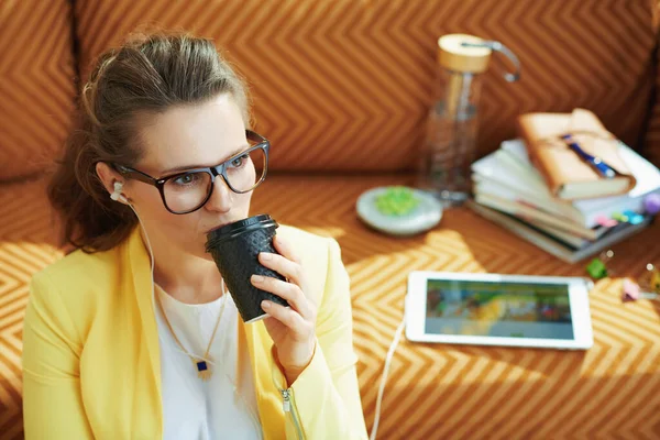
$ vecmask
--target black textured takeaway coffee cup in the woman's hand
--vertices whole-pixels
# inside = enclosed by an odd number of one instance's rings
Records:
[[[207,233],[206,251],[212,255],[241,318],[246,323],[266,317],[261,307],[265,299],[288,307],[286,300],[254,287],[250,282],[253,274],[286,280],[258,262],[260,252],[277,253],[273,246],[273,237],[278,227],[271,216],[258,215]]]

